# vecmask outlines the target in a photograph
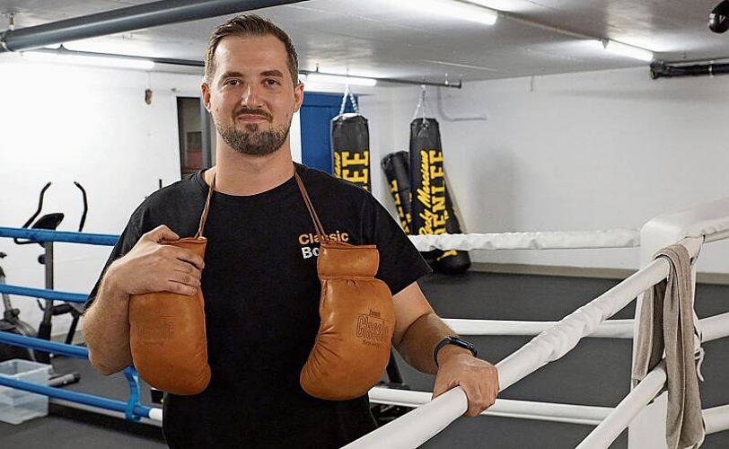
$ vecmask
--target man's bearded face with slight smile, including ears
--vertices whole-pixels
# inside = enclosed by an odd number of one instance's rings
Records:
[[[275,36],[228,36],[215,49],[215,75],[202,85],[203,101],[234,151],[265,155],[288,144],[303,85],[294,87],[286,62]]]

